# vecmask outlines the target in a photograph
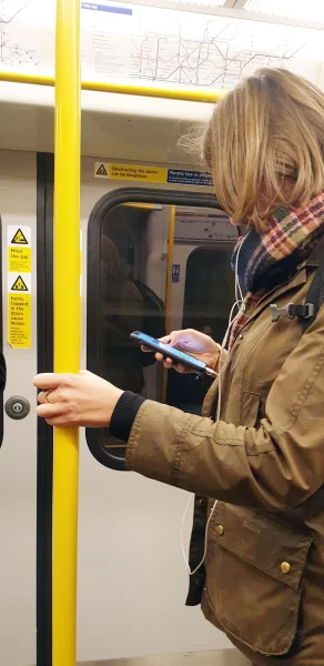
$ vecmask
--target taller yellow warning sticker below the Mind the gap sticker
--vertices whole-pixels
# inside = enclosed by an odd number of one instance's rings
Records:
[[[31,275],[8,273],[8,342],[16,349],[31,346]]]

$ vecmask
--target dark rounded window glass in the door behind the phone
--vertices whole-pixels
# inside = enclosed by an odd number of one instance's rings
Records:
[[[160,337],[170,332],[166,319],[173,330],[198,329],[221,342],[234,300],[230,259],[237,232],[221,211],[176,206],[172,224],[171,209],[128,203],[103,219],[100,374],[120,389],[200,413],[211,380],[164,372],[130,334]],[[124,456],[125,444],[108,428],[99,436],[104,448]]]

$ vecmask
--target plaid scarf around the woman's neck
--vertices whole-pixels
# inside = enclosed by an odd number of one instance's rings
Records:
[[[324,233],[324,192],[305,208],[277,209],[263,234],[255,230],[239,240],[232,256],[244,296],[244,310],[233,321],[227,349],[231,350],[241,329],[253,314],[260,300],[275,286],[290,280],[312,252]]]

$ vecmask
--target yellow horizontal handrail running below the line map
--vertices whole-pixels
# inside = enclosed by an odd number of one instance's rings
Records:
[[[39,74],[26,74],[22,72],[0,71],[0,81],[9,83],[30,83],[33,85],[54,85],[53,77],[43,77]],[[113,92],[117,94],[132,94],[139,97],[162,98],[169,100],[182,100],[186,102],[203,102],[212,104],[224,97],[225,91],[204,89],[188,89],[188,88],[165,88],[154,85],[141,85],[138,83],[115,83],[103,81],[82,81],[82,90],[91,90],[93,92]]]

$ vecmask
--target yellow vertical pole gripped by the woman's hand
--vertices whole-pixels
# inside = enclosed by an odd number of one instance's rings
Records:
[[[54,371],[80,371],[80,0],[57,0]],[[55,428],[53,666],[77,663],[78,428]]]

